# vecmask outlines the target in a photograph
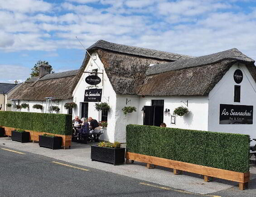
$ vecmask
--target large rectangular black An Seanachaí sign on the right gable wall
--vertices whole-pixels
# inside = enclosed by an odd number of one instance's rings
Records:
[[[253,106],[220,104],[220,124],[252,124]]]

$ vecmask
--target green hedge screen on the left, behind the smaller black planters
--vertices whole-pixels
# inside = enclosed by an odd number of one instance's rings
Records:
[[[72,116],[68,114],[0,111],[0,126],[72,135]]]

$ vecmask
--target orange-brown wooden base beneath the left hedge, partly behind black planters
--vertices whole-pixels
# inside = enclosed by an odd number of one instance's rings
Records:
[[[6,126],[2,126],[2,128],[5,129],[5,135],[7,135],[7,136],[11,136],[12,135],[11,131],[15,130],[15,128],[6,127]],[[39,135],[43,135],[43,134],[52,135],[51,133],[38,132],[38,131],[33,131],[33,130],[25,130],[25,131],[30,133],[29,140],[33,141],[33,142],[39,142]],[[62,138],[62,146],[64,149],[71,148],[72,135],[58,135],[58,134],[54,134],[54,135]]]

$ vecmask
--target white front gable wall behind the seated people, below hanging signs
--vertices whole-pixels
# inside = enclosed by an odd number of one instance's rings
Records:
[[[94,62],[92,58],[89,59],[87,66],[85,68],[85,72],[90,72],[93,69],[98,69],[98,72],[103,72],[102,74],[98,74],[98,77],[101,78],[101,83],[97,85],[98,89],[102,89],[102,97],[101,102],[106,102],[110,106],[110,110],[108,111],[108,126],[107,129],[104,130],[104,134],[100,136],[101,140],[111,141],[114,142],[114,135],[115,135],[115,126],[116,126],[116,93],[113,90],[109,78],[106,76],[105,69],[103,64],[98,57],[97,53],[92,53],[91,56],[94,58]],[[100,67],[98,67],[97,65]],[[82,114],[82,103],[84,102],[84,93],[87,89],[94,89],[95,86],[90,88],[90,85],[85,82],[85,78],[90,73],[83,73],[82,77],[80,78],[77,86],[73,91],[73,101],[77,103],[77,109],[73,111],[74,115],[79,115],[80,118]],[[93,119],[100,121],[101,120],[101,111],[97,111],[95,109],[96,102],[88,102],[88,117],[92,117]]]

